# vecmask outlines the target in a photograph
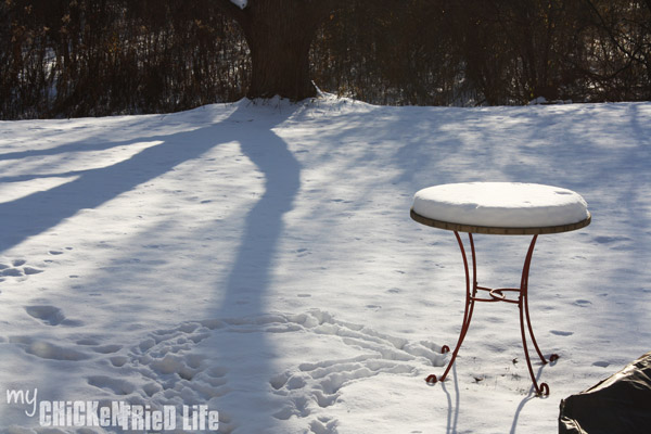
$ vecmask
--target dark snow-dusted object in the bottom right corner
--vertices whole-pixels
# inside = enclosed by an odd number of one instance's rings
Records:
[[[599,384],[561,399],[559,434],[649,433],[651,353]]]

